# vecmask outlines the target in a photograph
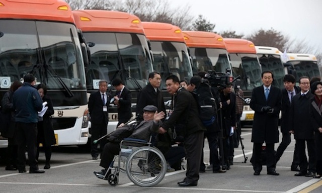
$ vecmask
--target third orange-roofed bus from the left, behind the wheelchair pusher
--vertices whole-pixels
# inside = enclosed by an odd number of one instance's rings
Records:
[[[177,75],[180,80],[189,80],[192,77],[192,68],[187,46],[179,27],[157,22],[142,22],[145,35],[151,44],[153,53],[153,69],[160,72],[163,90],[166,99],[170,95],[166,91],[166,77]]]

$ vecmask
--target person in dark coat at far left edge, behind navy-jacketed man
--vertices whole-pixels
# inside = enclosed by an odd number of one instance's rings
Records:
[[[1,101],[2,123],[1,136],[8,138],[8,148],[6,155],[6,170],[17,170],[17,151],[18,144],[15,140],[15,109],[12,103],[14,92],[22,86],[18,80],[14,81],[8,92],[5,93]]]

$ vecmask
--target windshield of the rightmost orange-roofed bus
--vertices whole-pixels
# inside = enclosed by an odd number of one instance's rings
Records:
[[[243,90],[252,90],[262,85],[261,67],[256,54],[230,53],[232,74],[234,77],[240,75]]]

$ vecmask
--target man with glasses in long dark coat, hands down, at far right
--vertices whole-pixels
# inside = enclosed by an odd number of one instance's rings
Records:
[[[295,144],[298,150],[299,157],[299,173],[295,176],[312,177],[315,174],[315,151],[314,151],[314,131],[311,125],[310,107],[311,100],[314,97],[310,89],[310,79],[307,76],[299,78],[300,93],[293,97],[290,121],[290,132],[294,133]],[[308,162],[305,154],[305,141],[308,151]],[[307,171],[308,165],[308,171]]]

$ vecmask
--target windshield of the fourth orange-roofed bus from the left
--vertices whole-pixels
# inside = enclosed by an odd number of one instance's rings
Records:
[[[227,69],[231,71],[227,51],[224,49],[190,48],[190,54],[192,56],[194,74],[197,74],[199,71],[207,72],[208,70],[223,73],[226,73]]]

